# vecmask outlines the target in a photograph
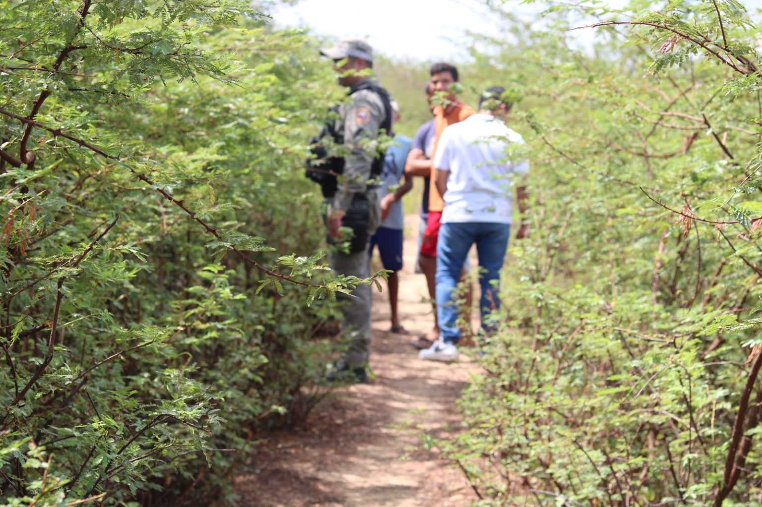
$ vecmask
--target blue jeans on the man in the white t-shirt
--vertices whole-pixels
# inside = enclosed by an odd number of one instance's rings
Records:
[[[442,224],[437,244],[437,317],[441,337],[446,343],[458,343],[458,303],[453,291],[458,285],[460,270],[476,244],[479,254],[479,313],[482,315],[482,333],[494,329],[488,323],[488,314],[500,308],[500,269],[511,225],[491,222],[448,222]]]

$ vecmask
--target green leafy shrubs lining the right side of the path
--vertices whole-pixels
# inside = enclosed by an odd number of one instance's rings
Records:
[[[762,505],[758,38],[735,2],[634,5],[584,11],[623,23],[592,51],[568,8],[507,20],[489,60],[523,99],[534,204],[440,442],[479,505]]]

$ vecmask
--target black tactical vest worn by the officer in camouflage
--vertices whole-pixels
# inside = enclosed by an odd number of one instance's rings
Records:
[[[384,129],[386,134],[392,135],[392,100],[389,96],[389,92],[381,87],[376,81],[370,79],[363,79],[356,85],[352,86],[349,90],[349,94],[354,94],[360,90],[370,90],[377,94],[381,99],[384,110],[384,120],[381,123],[380,129]],[[333,113],[338,113],[338,106],[331,107],[329,110]],[[320,139],[323,137],[330,137],[333,139],[336,145],[344,145],[343,133],[336,132],[335,121],[328,121],[320,130],[320,134],[315,138],[310,139],[312,145],[311,151],[315,158],[307,161],[306,177],[310,180],[320,184],[320,190],[325,198],[331,198],[335,196],[338,190],[337,176],[344,174],[344,158],[343,157],[328,157],[325,147],[320,144]],[[386,150],[384,150],[386,151]],[[370,179],[375,179],[381,176],[383,170],[383,159],[386,155],[384,151],[379,152],[379,155],[373,159],[373,164],[370,165]]]

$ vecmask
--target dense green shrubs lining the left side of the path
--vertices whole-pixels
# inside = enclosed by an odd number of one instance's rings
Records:
[[[302,164],[341,92],[261,19],[0,2],[0,505],[234,505],[258,431],[324,394],[306,301],[355,280]]]

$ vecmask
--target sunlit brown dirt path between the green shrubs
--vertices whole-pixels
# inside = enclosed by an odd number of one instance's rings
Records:
[[[408,217],[399,308],[411,333],[431,327],[423,275],[413,273],[417,217]],[[385,287],[386,289],[386,287]],[[424,362],[410,336],[389,333],[386,292],[374,296],[370,384],[347,387],[309,416],[305,429],[269,435],[236,480],[239,505],[257,507],[465,507],[474,499],[463,474],[421,435],[446,437],[459,419],[455,399],[475,370]]]

